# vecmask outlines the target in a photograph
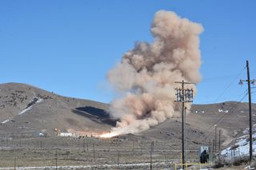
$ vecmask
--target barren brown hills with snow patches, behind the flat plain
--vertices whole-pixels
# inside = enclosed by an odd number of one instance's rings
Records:
[[[88,135],[109,132],[117,120],[110,117],[108,109],[108,104],[62,97],[32,85],[0,84],[0,134],[30,135],[42,132],[54,136],[56,131]],[[254,104],[254,120],[255,114]],[[218,130],[222,130],[222,145],[227,146],[247,128],[248,105],[234,101],[193,105],[186,120],[190,148],[213,140],[214,124],[217,124]],[[137,135],[179,145],[181,134],[181,119],[174,117]]]

